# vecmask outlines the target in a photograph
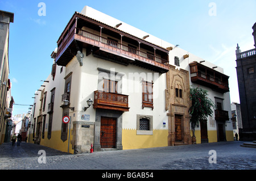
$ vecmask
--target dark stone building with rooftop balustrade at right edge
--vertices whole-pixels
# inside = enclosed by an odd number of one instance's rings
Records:
[[[253,26],[256,47],[256,23]],[[240,140],[256,140],[256,48],[241,52],[237,44],[237,80],[240,95],[242,128]]]

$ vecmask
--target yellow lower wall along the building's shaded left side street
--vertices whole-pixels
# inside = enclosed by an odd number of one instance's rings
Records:
[[[47,132],[44,133],[44,138],[41,137],[40,145],[47,146],[49,148],[53,148],[56,150],[68,152],[68,139],[66,141],[62,141],[60,139],[61,131],[52,131],[51,139],[47,138]],[[72,134],[70,136],[70,140],[72,140]],[[30,141],[31,143],[34,143],[32,134],[30,134]],[[74,153],[74,150],[72,149],[72,145],[69,144],[69,153]]]

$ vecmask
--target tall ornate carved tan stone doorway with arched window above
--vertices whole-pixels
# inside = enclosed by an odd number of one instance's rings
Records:
[[[166,89],[169,146],[191,144],[190,117],[188,115],[190,105],[188,71],[177,70],[175,66],[170,65]]]

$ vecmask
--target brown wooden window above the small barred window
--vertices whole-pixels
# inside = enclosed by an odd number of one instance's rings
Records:
[[[153,81],[147,82],[142,80],[142,109],[144,107],[151,107],[154,109],[153,99]]]

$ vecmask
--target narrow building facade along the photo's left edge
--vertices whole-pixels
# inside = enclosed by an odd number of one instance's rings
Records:
[[[13,23],[12,12],[0,10],[0,144],[10,140],[13,110],[13,98],[9,95],[11,82],[9,77],[9,27]]]

